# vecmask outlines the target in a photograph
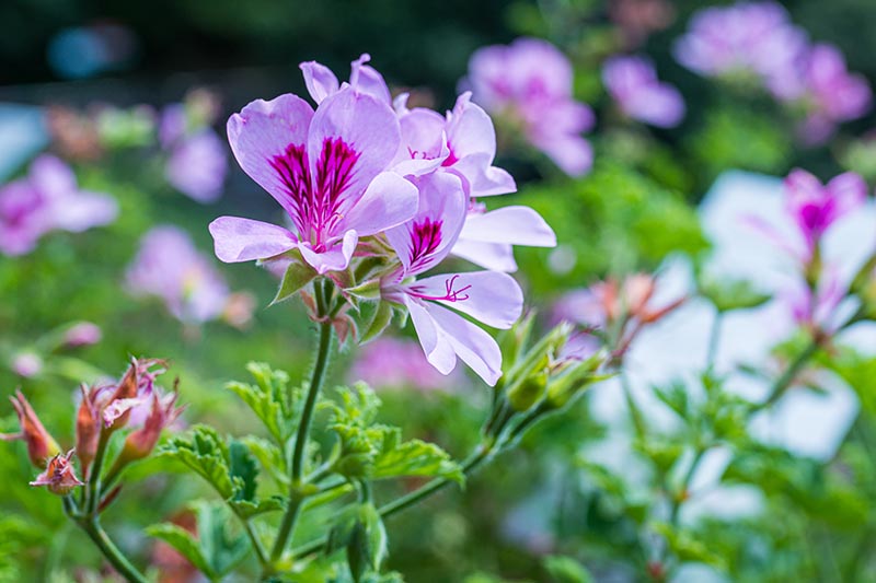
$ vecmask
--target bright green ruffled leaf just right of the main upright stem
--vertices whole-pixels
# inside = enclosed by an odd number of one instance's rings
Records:
[[[380,399],[367,385],[338,388],[328,429],[337,436],[334,469],[347,477],[443,477],[462,483],[460,466],[433,443],[402,441],[399,428],[376,422]]]

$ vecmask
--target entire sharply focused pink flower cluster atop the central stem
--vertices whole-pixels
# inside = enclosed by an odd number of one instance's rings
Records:
[[[553,246],[553,231],[529,208],[487,211],[481,202],[516,186],[493,165],[493,123],[469,93],[443,116],[408,108],[405,95],[392,101],[368,60],[354,61],[345,83],[320,63],[302,63],[315,110],[287,94],[229,119],[234,156],[290,228],[221,217],[210,224],[216,255],[281,260],[342,289],[368,287],[368,299],[411,314],[436,369],[449,373],[459,357],[495,384],[496,342],[448,308],[509,327],[522,307],[519,285],[503,272],[516,268],[511,246]],[[451,253],[487,270],[419,278]]]

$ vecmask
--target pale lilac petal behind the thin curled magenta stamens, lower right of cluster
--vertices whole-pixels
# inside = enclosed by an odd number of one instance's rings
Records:
[[[408,285],[413,293],[431,298],[494,328],[510,328],[523,310],[523,292],[515,279],[497,271],[448,273],[417,280]],[[452,294],[448,294],[448,290]],[[425,298],[424,298],[425,300]]]

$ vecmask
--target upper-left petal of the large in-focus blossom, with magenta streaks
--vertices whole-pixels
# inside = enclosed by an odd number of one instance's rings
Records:
[[[313,108],[297,95],[280,95],[269,102],[256,100],[228,120],[228,141],[234,158],[252,179],[295,214],[289,176],[307,176],[303,160]],[[298,155],[290,155],[290,147]],[[277,170],[281,160],[286,172]],[[307,178],[303,178],[307,180]]]

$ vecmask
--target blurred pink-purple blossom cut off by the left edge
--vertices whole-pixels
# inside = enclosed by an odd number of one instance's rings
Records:
[[[79,233],[113,222],[117,213],[115,200],[80,190],[64,162],[41,155],[26,177],[0,187],[0,253],[24,255],[50,231]]]

